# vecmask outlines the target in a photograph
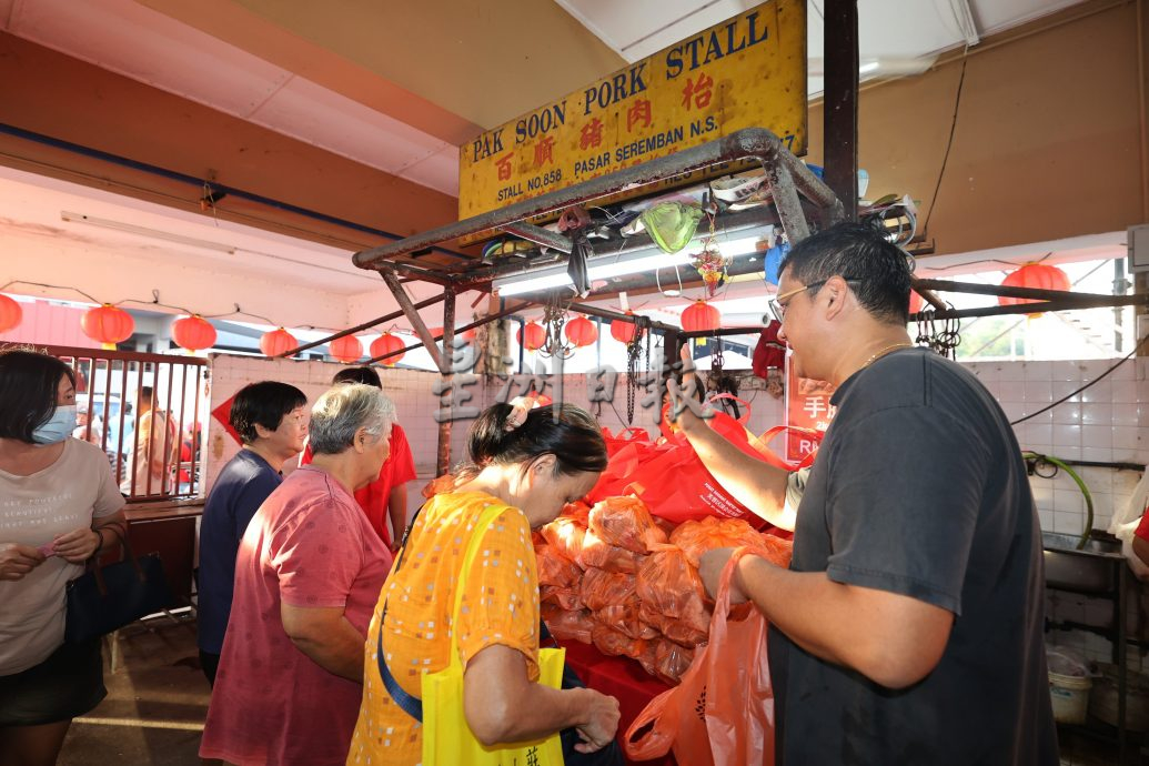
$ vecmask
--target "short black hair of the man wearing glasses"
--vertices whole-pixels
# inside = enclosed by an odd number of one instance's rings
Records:
[[[811,234],[782,258],[778,273],[787,269],[803,285],[842,277],[874,319],[910,320],[909,256],[874,226],[845,222]],[[818,289],[811,288],[811,296]]]

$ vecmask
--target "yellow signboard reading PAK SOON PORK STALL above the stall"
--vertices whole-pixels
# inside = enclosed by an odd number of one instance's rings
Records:
[[[743,127],[805,154],[805,0],[770,0],[460,148],[458,217]]]

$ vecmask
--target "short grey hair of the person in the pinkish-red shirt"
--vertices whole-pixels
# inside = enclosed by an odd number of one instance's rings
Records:
[[[316,455],[338,455],[363,428],[376,440],[391,434],[395,405],[375,386],[341,384],[327,390],[311,408],[308,433]]]

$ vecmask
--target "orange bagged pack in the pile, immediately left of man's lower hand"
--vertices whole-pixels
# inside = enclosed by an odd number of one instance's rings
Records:
[[[639,568],[638,594],[643,604],[664,617],[673,618],[681,628],[664,624],[660,629],[674,641],[707,634],[710,609],[702,578],[686,554],[674,546],[660,546]],[[680,641],[681,643],[681,641]]]

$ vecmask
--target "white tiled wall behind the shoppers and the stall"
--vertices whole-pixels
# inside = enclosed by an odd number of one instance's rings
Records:
[[[1112,361],[1084,362],[981,362],[967,367],[978,376],[1002,404],[1010,419],[1036,412],[1057,399],[1096,379]],[[255,380],[283,380],[299,386],[314,401],[325,390],[340,365],[324,362],[264,359],[218,355],[211,361],[211,408]],[[422,480],[434,475],[439,441],[439,424],[434,413],[440,400],[433,387],[437,373],[417,370],[381,370],[384,389],[394,400],[399,421],[407,432],[415,455],[421,481],[410,492],[411,503],[418,502],[417,489]],[[1023,449],[1067,459],[1096,462],[1149,462],[1149,359],[1136,358],[1118,366],[1101,382],[1016,426]],[[554,396],[555,379],[547,380],[545,393]],[[479,410],[492,404],[503,384],[484,382],[481,379],[465,387],[471,394],[468,404]],[[517,388],[512,389],[517,390]],[[634,425],[651,433],[655,426],[651,410],[641,407],[643,392],[637,396]],[[771,397],[761,381],[748,378],[742,382],[742,396],[751,403],[750,430],[761,433],[781,423],[785,417],[781,400]],[[587,401],[587,376],[563,377],[563,400],[594,411],[603,426],[618,431],[625,423],[626,377],[619,374],[615,385],[614,402],[592,404]],[[465,451],[470,419],[452,424],[452,464],[460,462]],[[781,449],[781,444],[776,446]],[[208,428],[207,487],[215,474],[239,446],[228,436],[221,424]],[[1128,502],[1140,478],[1134,471],[1080,467],[1082,480],[1094,500],[1094,528],[1109,526],[1115,509]],[[1041,526],[1049,532],[1078,534],[1085,524],[1085,501],[1073,481],[1059,472],[1054,479],[1034,477],[1031,480]]]

